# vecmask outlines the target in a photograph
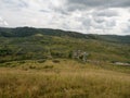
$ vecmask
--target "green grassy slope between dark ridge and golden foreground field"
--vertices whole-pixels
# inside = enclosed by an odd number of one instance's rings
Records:
[[[1,60],[39,59],[49,52],[68,58],[73,50],[90,53],[90,60],[129,62],[130,46],[95,39],[76,39],[70,37],[31,36],[22,38],[0,38],[0,48],[8,47],[12,54]],[[21,56],[20,56],[21,53]],[[54,56],[52,54],[52,57]]]

